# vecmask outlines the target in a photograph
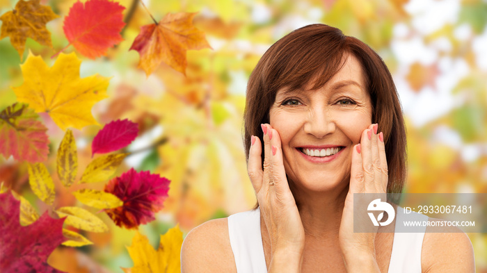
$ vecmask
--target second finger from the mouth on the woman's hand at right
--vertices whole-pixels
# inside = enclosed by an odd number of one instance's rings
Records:
[[[360,154],[362,155],[362,168],[364,172],[364,187],[365,192],[374,192],[374,164],[372,163],[372,131],[371,124],[369,128],[362,132],[362,139],[360,140]]]

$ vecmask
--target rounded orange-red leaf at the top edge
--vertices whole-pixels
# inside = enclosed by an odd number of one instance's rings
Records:
[[[125,7],[108,0],[88,0],[84,5],[77,1],[64,19],[67,40],[90,59],[106,55],[109,47],[123,41],[123,10]]]

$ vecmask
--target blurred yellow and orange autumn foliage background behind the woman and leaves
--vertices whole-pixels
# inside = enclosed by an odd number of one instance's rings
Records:
[[[0,0],[0,15],[16,2]],[[54,63],[50,57],[67,44],[63,16],[74,2],[41,1],[61,15],[47,24],[55,50],[28,39],[24,60],[30,49]],[[167,13],[198,12],[195,26],[205,31],[213,48],[188,51],[186,76],[162,64],[149,77],[136,68],[139,56],[129,47],[152,19],[137,1],[120,4],[126,7],[125,41],[104,58],[78,57],[83,58],[81,77],[112,77],[109,98],[93,108],[98,122],[128,118],[139,124],[139,137],[128,148],[131,156],[117,175],[134,167],[171,181],[165,208],[156,221],[139,229],[154,247],[159,234],[177,223],[186,234],[202,222],[253,207],[241,141],[246,81],[273,42],[312,23],[336,26],[359,38],[390,68],[408,129],[406,192],[487,192],[487,1],[147,0],[157,20]],[[0,40],[0,110],[16,101],[10,87],[22,84],[20,64],[9,38]],[[48,115],[41,118],[51,141],[45,164],[54,169],[63,131]],[[73,130],[80,166],[88,164],[89,144],[99,129]],[[0,156],[0,181],[42,213],[30,192],[25,163]],[[56,192],[64,205],[77,202],[63,187]],[[94,245],[58,247],[49,263],[67,272],[131,267],[125,246],[131,245],[135,231],[103,220],[109,233],[84,234]],[[469,236],[477,272],[487,272],[487,231]]]

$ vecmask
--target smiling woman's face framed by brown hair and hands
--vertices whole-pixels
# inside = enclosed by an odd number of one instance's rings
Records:
[[[331,190],[349,183],[353,146],[372,123],[372,103],[358,60],[317,90],[278,91],[269,112],[284,166],[296,188]]]

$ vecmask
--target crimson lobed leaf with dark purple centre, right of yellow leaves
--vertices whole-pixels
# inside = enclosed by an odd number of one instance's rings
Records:
[[[163,208],[168,197],[170,181],[159,174],[129,169],[105,185],[105,192],[116,195],[123,206],[105,210],[113,222],[127,229],[137,228],[155,219],[154,213]]]

